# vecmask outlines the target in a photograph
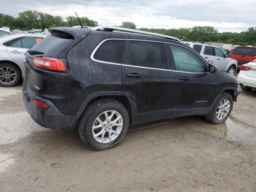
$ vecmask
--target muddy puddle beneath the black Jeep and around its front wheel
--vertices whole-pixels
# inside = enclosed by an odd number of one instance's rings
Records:
[[[157,128],[161,126],[175,126],[175,122],[184,126],[184,128],[195,132],[206,134],[226,136],[232,141],[256,142],[256,122],[249,117],[229,116],[226,122],[222,124],[211,124],[200,116],[188,116],[166,120],[164,122],[151,122],[142,125],[130,126],[130,131],[143,130],[147,128]]]

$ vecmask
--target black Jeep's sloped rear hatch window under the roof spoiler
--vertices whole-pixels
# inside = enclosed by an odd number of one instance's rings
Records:
[[[31,48],[33,51],[42,52],[40,56],[66,58],[68,51],[76,44],[74,36],[66,32],[53,32],[40,43]]]

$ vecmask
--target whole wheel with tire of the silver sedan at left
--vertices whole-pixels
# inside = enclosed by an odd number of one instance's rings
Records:
[[[0,86],[12,87],[20,81],[20,69],[12,63],[0,64]]]

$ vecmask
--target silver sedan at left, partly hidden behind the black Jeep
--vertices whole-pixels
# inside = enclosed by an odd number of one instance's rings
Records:
[[[38,34],[10,34],[0,37],[0,86],[11,87],[24,78],[24,54],[44,37]]]

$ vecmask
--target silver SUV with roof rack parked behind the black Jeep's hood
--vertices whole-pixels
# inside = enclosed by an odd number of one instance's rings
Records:
[[[211,60],[218,70],[234,75],[237,70],[237,61],[230,58],[228,51],[209,43],[189,42],[189,46],[196,50],[206,60]]]

